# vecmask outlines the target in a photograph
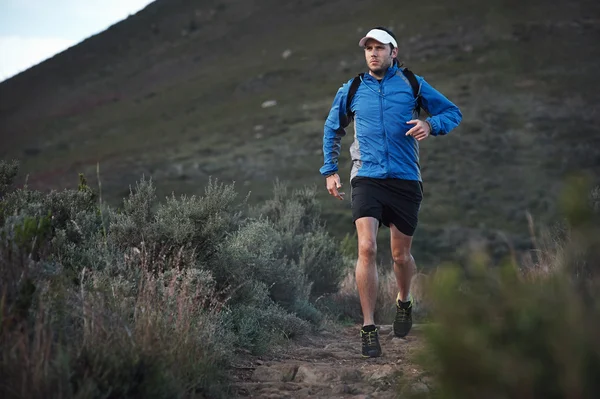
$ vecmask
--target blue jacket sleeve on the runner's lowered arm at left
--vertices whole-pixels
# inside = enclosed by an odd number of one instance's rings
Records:
[[[350,120],[346,115],[346,98],[349,89],[349,83],[345,83],[338,89],[325,121],[323,133],[324,162],[321,169],[319,169],[323,176],[338,171],[338,157],[342,148],[342,137],[346,135],[344,129],[350,124]]]

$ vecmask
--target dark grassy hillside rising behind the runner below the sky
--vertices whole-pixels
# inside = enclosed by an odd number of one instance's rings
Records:
[[[158,0],[0,83],[0,158],[19,159],[40,189],[73,187],[99,163],[103,196],[116,204],[142,174],[159,197],[201,192],[210,176],[236,181],[253,202],[276,178],[322,187],[323,121],[339,85],[364,68],[359,38],[381,24],[464,115],[421,146],[421,265],[473,240],[498,257],[505,242],[527,247],[526,212],[555,217],[572,174],[598,182],[592,0]],[[261,107],[268,100],[277,105]],[[329,230],[352,232],[349,201],[324,189],[319,198]]]

